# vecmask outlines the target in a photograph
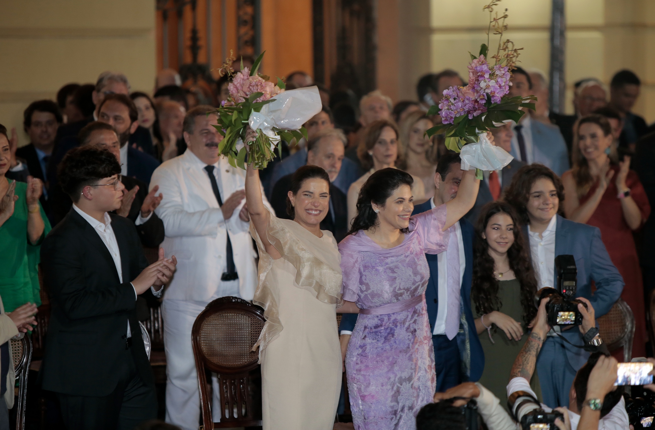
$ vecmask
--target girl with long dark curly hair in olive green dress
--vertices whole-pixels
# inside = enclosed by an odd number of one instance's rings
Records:
[[[471,308],[485,352],[485,370],[479,380],[507,403],[507,381],[514,358],[536,316],[536,276],[530,248],[521,232],[519,218],[508,203],[485,205],[477,219],[473,256]],[[536,393],[538,378],[531,385]]]

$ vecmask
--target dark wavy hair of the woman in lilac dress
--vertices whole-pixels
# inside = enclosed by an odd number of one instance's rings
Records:
[[[354,235],[360,230],[367,230],[379,224],[377,214],[373,210],[371,203],[378,206],[384,206],[386,199],[400,187],[402,184],[409,185],[414,183],[411,174],[403,172],[400,169],[387,167],[371,174],[364,182],[360,195],[357,197],[357,216],[352,220],[352,227],[348,235]],[[409,227],[400,229],[402,233],[409,233]]]

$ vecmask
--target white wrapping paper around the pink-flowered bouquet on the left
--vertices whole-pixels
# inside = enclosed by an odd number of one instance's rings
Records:
[[[248,124],[253,130],[261,131],[275,143],[280,137],[273,127],[284,130],[297,130],[312,116],[321,111],[321,96],[316,86],[282,91],[274,97],[274,102],[264,105],[261,112],[252,112]]]

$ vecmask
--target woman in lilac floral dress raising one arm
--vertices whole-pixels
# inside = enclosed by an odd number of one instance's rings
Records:
[[[425,253],[449,247],[450,227],[473,207],[479,180],[474,170],[465,171],[457,197],[410,217],[412,182],[398,169],[373,173],[360,191],[350,235],[339,244],[341,312],[360,313],[346,354],[356,430],[413,430],[416,414],[434,395]],[[455,234],[453,240],[458,248]],[[457,252],[449,254],[459,270]]]

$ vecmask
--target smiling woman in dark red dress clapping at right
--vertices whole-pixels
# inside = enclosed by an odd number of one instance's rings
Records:
[[[573,168],[562,175],[564,212],[569,220],[601,229],[612,263],[626,283],[621,297],[635,315],[632,356],[645,357],[644,288],[632,232],[646,222],[650,205],[637,173],[630,170],[630,157],[618,161],[605,116],[584,116],[574,130]]]

